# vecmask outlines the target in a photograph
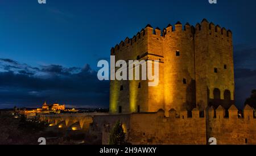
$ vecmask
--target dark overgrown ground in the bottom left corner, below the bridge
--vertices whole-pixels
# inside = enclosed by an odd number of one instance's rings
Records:
[[[0,115],[1,145],[38,145],[38,138],[45,137],[47,145],[88,145],[100,144],[86,132],[54,130],[48,124],[36,120],[18,119],[14,115]]]

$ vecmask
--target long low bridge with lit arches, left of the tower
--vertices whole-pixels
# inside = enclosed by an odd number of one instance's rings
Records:
[[[108,115],[108,113],[74,113],[40,115],[39,120],[47,122],[49,127],[65,130],[88,130],[93,116]]]

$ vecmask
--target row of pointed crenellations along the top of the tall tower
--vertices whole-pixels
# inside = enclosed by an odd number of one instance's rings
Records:
[[[126,37],[125,40],[121,41],[119,44],[116,44],[115,47],[111,49],[111,54],[115,54],[118,51],[126,50],[127,48],[133,48],[138,46],[143,46],[143,42],[148,42],[151,37],[157,37],[164,40],[164,38],[170,38],[177,35],[178,32],[184,32],[189,34],[188,37],[192,35],[199,35],[202,33],[208,34],[212,37],[221,37],[221,39],[227,38],[229,41],[232,40],[232,32],[226,30],[224,27],[219,25],[214,25],[212,22],[208,22],[207,19],[203,19],[201,23],[197,23],[196,26],[191,26],[191,24],[186,23],[184,26],[181,22],[177,22],[174,26],[168,24],[166,28],[161,30],[159,27],[153,28],[150,24],[147,24],[145,28],[142,28],[136,35],[129,38]]]

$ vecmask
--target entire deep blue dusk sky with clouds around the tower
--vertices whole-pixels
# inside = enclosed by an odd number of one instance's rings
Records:
[[[256,1],[0,0],[0,108],[38,107],[44,100],[108,107],[109,82],[97,61],[150,23],[209,22],[233,32],[236,103],[256,88]]]

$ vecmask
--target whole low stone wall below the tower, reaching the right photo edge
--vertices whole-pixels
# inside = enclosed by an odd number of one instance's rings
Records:
[[[160,109],[155,113],[94,116],[90,131],[101,133],[102,143],[108,144],[110,130],[121,121],[127,141],[134,145],[206,145],[211,137],[217,139],[218,145],[256,144],[256,119],[250,106],[246,106],[241,115],[233,105],[228,117],[224,117],[222,106],[207,108],[206,117],[200,117],[199,112],[195,108],[192,116],[186,111],[178,115],[171,109],[166,117]]]

